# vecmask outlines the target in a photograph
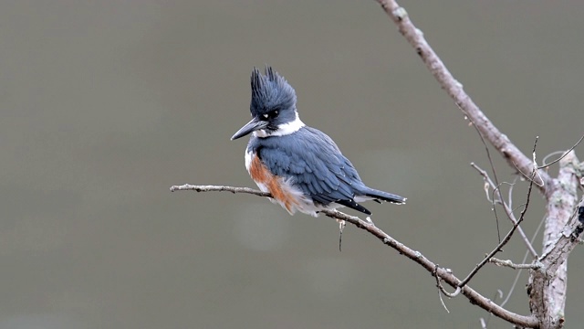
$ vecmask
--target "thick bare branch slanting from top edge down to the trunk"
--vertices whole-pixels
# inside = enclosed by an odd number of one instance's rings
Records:
[[[422,58],[426,67],[433,74],[434,78],[442,86],[450,97],[453,98],[456,105],[458,105],[481,132],[483,136],[495,146],[495,149],[506,159],[507,163],[516,166],[518,171],[528,177],[534,167],[531,160],[523,154],[515,144],[511,143],[509,138],[501,133],[481,111],[474,101],[464,91],[463,85],[454,79],[453,75],[444,66],[442,60],[430,47],[426,39],[423,37],[422,31],[415,27],[408,16],[406,10],[398,5],[395,0],[377,0],[385,13],[391,17],[393,22],[397,25],[401,35],[405,37],[416,53]],[[527,173],[527,174],[525,174]],[[543,193],[547,192],[547,187],[550,182],[550,177],[547,173],[541,171],[539,173],[543,184],[539,190]]]

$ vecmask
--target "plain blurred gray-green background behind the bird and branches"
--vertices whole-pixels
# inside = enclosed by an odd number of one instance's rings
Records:
[[[538,135],[542,159],[578,140],[584,3],[401,5],[518,147]],[[255,186],[246,138],[229,137],[249,120],[249,73],[265,64],[366,183],[409,197],[369,204],[379,227],[461,277],[494,248],[469,166],[487,168],[484,146],[374,1],[5,0],[0,328],[478,328],[484,311],[459,297],[446,313],[428,272],[358,229],[339,252],[330,218],[169,192]],[[529,235],[542,210],[536,195]],[[524,252],[514,239],[500,257]],[[583,273],[577,249],[568,328],[584,322]],[[471,284],[495,297],[514,275],[487,266]],[[507,304],[518,313],[526,278]]]

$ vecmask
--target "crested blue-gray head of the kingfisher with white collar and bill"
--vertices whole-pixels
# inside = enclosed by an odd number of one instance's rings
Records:
[[[249,111],[252,121],[247,122],[232,140],[255,133],[258,137],[281,136],[294,133],[304,126],[298,119],[296,91],[271,67],[265,73],[252,71],[252,101]]]

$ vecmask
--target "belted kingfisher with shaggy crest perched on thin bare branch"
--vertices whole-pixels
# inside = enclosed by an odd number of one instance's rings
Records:
[[[252,121],[231,139],[252,133],[245,168],[273,196],[272,202],[290,215],[298,210],[314,217],[320,210],[342,206],[371,215],[358,203],[366,200],[405,203],[405,197],[365,186],[337,144],[300,121],[296,91],[275,70],[266,66],[261,74],[254,68],[251,85]]]

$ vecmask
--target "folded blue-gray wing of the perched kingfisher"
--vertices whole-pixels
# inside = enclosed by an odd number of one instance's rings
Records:
[[[294,135],[256,139],[250,146],[274,175],[291,178],[314,202],[370,213],[353,200],[364,187],[357,171],[325,133],[305,127]]]

